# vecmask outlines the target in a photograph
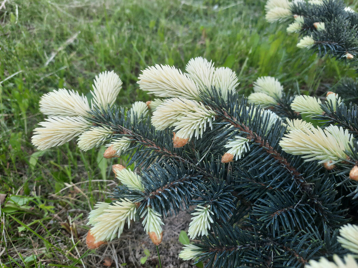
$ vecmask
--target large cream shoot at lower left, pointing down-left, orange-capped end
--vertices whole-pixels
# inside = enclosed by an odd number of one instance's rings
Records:
[[[97,217],[90,219],[92,225],[94,225],[90,230],[93,244],[112,240],[115,237],[119,238],[125,222],[127,221],[129,228],[131,220],[136,220],[137,204],[127,198],[121,198],[109,204],[105,209],[102,209],[102,206],[98,209],[101,210],[101,214],[99,212],[94,213]]]

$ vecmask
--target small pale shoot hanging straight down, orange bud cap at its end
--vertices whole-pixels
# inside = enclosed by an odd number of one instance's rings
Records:
[[[164,225],[161,220],[161,214],[151,207],[147,207],[140,217],[144,217],[142,224],[145,232],[148,232],[154,244],[159,245],[163,238],[163,229],[161,228],[161,225]]]

